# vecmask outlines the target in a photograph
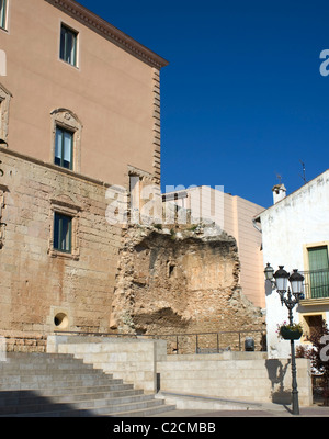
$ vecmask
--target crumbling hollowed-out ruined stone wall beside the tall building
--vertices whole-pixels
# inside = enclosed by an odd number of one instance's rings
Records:
[[[206,232],[126,229],[111,329],[144,335],[264,329],[260,308],[239,285],[236,240]]]

